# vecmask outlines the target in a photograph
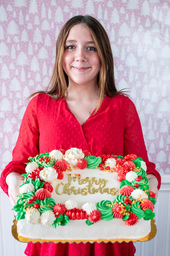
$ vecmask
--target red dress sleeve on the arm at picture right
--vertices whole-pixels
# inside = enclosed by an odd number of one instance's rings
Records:
[[[160,174],[155,169],[156,165],[149,162],[139,116],[137,114],[134,103],[127,97],[125,109],[124,155],[131,153],[142,157],[143,161],[145,161],[147,165],[147,174],[154,174],[156,176],[159,189],[161,182]]]

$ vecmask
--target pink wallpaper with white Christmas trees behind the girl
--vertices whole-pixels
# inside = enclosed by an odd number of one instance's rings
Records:
[[[106,28],[116,85],[136,105],[150,161],[170,174],[170,2],[163,0],[0,0],[0,170],[12,158],[27,97],[48,84],[59,30],[77,14]]]

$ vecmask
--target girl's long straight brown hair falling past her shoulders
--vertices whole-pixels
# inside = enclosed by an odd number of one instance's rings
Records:
[[[96,111],[100,108],[103,95],[114,97],[116,94],[123,93],[117,91],[114,78],[114,60],[110,46],[109,37],[101,23],[90,15],[77,15],[69,19],[62,27],[58,39],[56,40],[56,56],[53,74],[45,91],[38,91],[31,94],[33,97],[37,93],[46,93],[53,99],[61,99],[64,94],[68,97],[68,76],[62,68],[62,58],[64,53],[64,44],[66,42],[69,30],[75,25],[84,25],[90,29],[94,39],[97,52],[100,58],[100,72],[98,75],[99,100]]]

